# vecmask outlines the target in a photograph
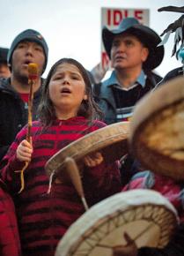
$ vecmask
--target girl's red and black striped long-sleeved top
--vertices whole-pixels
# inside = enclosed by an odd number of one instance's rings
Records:
[[[26,127],[18,133],[4,156],[6,165],[1,170],[1,175],[14,193],[23,255],[53,256],[55,246],[65,231],[85,212],[72,184],[53,184],[51,192],[47,193],[48,176],[44,169],[46,162],[72,141],[105,125],[100,121],[89,122],[85,117],[56,120],[47,128],[43,128],[39,121],[33,122],[32,161],[25,170],[26,187],[20,194],[20,178],[15,170],[21,169],[22,162],[18,162],[16,158],[16,149],[26,138]],[[97,167],[86,168],[83,184],[89,205],[120,192],[120,173],[116,163],[103,162]]]

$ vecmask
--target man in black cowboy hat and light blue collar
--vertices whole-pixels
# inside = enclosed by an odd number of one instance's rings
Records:
[[[161,78],[151,70],[158,67],[164,57],[164,47],[150,27],[135,18],[122,19],[117,29],[102,30],[102,39],[114,71],[111,77],[94,86],[99,107],[107,124],[124,120],[132,106]]]

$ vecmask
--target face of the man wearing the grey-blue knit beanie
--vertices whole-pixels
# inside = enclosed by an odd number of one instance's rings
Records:
[[[38,64],[39,76],[45,63],[45,55],[40,44],[33,41],[20,41],[11,59],[12,75],[28,77],[28,64]]]

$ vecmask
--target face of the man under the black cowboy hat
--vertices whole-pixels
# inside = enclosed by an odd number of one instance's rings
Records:
[[[149,50],[132,34],[120,34],[114,37],[111,49],[111,61],[114,69],[141,67],[147,59]]]

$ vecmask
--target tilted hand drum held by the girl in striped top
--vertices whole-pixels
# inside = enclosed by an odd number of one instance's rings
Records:
[[[85,137],[77,139],[53,155],[46,163],[48,176],[55,170],[55,175],[62,179],[65,159],[73,158],[79,169],[83,169],[85,155],[100,152],[105,162],[114,162],[128,153],[129,122],[110,124]]]

